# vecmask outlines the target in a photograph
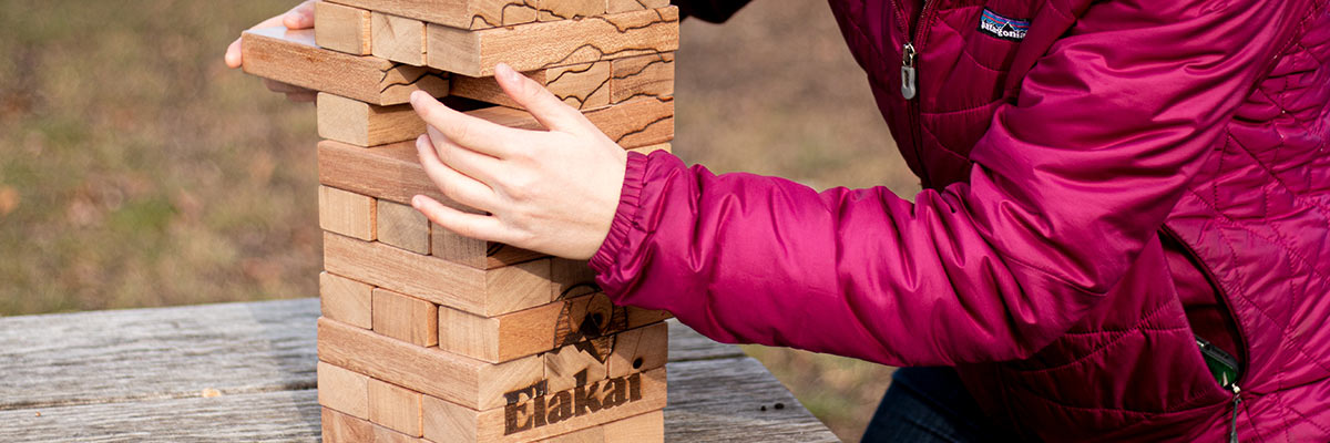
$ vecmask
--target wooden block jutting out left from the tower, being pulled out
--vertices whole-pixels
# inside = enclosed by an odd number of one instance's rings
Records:
[[[375,105],[407,102],[414,90],[448,93],[442,72],[323,49],[314,44],[314,29],[250,29],[241,53],[247,73]]]

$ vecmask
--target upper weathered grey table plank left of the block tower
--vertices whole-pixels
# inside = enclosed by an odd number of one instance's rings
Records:
[[[314,387],[317,299],[0,318],[0,410]]]

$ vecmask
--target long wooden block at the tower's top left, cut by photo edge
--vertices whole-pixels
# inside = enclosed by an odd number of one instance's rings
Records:
[[[536,21],[536,0],[335,0],[462,29]]]

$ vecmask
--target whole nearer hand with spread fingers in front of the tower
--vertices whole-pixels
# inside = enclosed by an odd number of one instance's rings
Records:
[[[415,196],[412,206],[458,234],[587,259],[609,234],[628,153],[577,109],[500,64],[495,78],[548,130],[505,128],[444,106],[423,92],[411,106],[428,124],[420,164],[444,196],[472,214]]]

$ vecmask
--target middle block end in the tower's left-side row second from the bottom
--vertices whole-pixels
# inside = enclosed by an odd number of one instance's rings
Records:
[[[439,306],[375,289],[374,331],[416,346],[435,346],[439,343]]]

